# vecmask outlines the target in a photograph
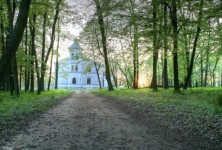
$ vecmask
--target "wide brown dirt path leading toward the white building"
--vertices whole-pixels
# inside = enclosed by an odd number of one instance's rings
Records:
[[[184,149],[178,134],[115,100],[73,94],[30,123],[3,150]]]

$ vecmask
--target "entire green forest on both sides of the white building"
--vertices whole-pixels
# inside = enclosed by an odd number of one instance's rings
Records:
[[[109,90],[221,86],[221,6],[216,0],[2,0],[1,90],[39,94],[51,82],[57,89],[61,28],[68,22],[81,25],[81,46],[105,67]]]

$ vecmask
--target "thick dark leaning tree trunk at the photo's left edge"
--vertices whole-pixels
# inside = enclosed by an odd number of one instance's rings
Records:
[[[30,2],[31,0],[21,0],[20,2],[15,27],[13,31],[9,33],[7,45],[0,59],[0,85],[3,84],[5,76],[7,75],[7,70],[9,70],[9,65],[7,64],[10,64],[12,60],[11,56],[15,55],[21,42],[28,18]]]

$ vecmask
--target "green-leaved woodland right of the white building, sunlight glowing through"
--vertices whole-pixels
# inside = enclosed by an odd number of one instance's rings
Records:
[[[113,86],[221,86],[219,1],[107,3],[96,3],[80,39],[88,56],[101,60],[107,51]]]

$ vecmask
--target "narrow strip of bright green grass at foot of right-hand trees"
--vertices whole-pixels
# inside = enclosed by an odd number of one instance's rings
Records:
[[[174,105],[180,109],[198,109],[207,113],[215,113],[215,104],[218,95],[222,93],[222,88],[192,88],[182,91],[182,94],[174,94],[173,89],[159,89],[153,92],[152,89],[116,89],[109,92],[107,90],[93,90],[92,93],[106,96],[114,96],[123,101],[133,101],[141,104],[151,104],[155,107]],[[221,109],[221,108],[220,108]]]

